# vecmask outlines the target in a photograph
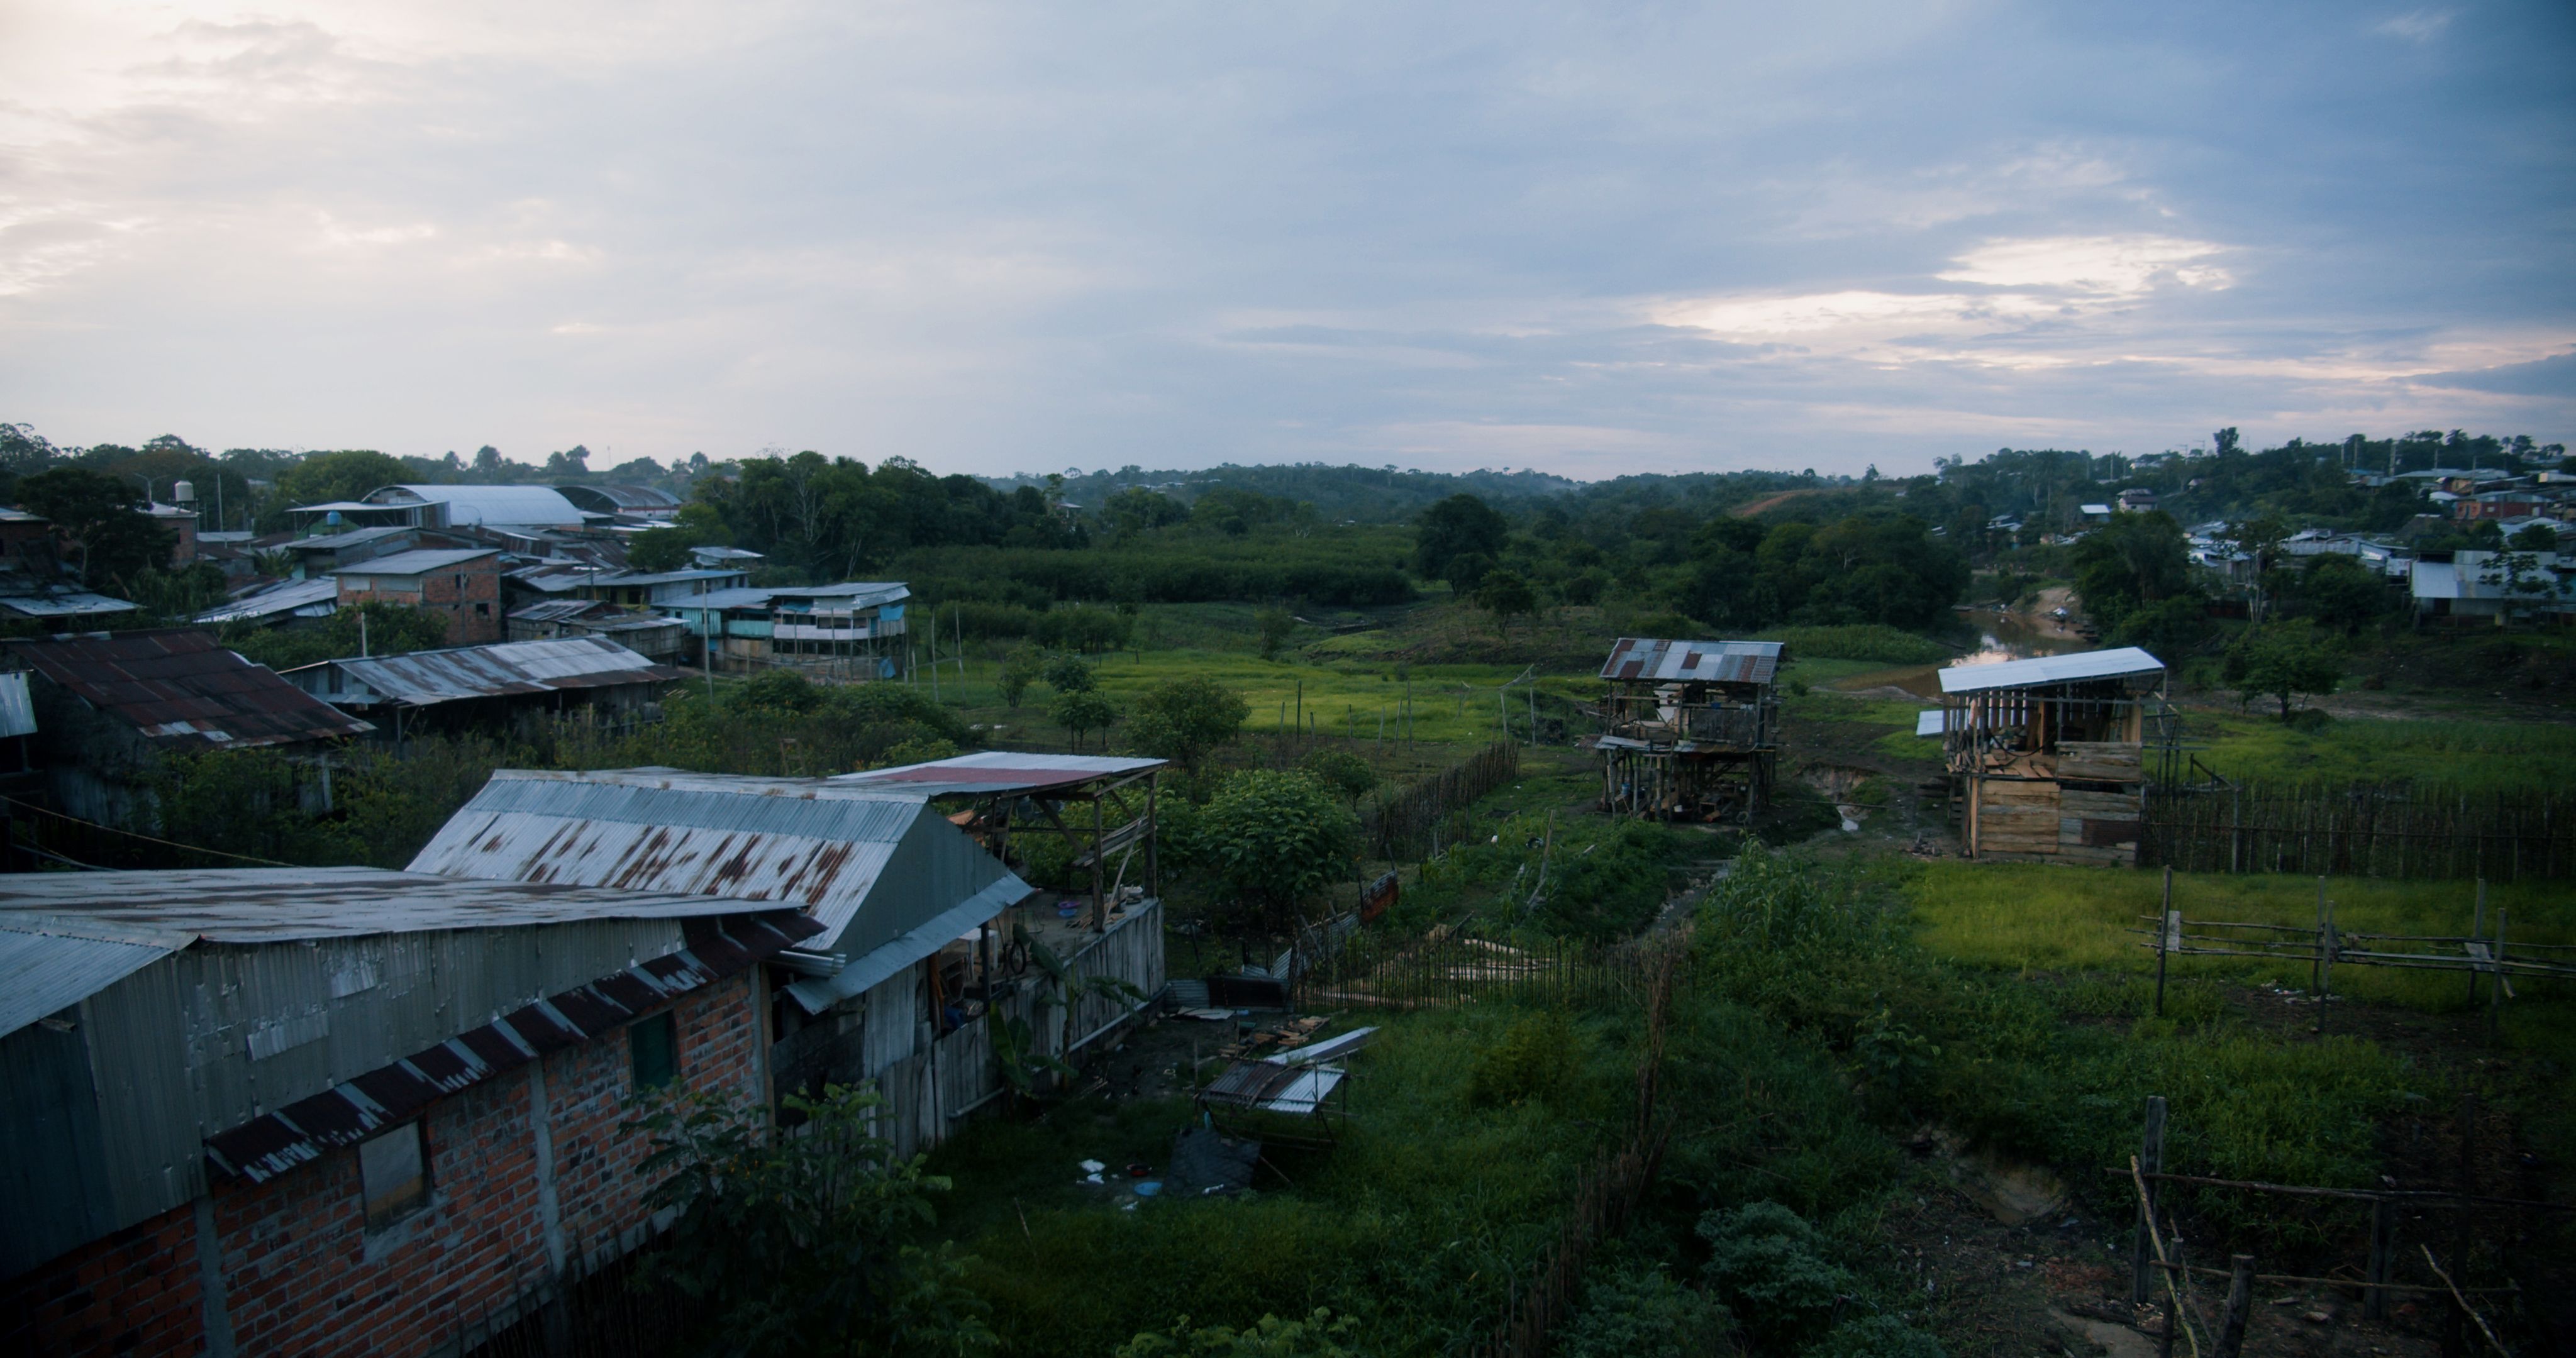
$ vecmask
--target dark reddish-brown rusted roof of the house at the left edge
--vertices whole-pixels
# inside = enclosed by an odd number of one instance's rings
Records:
[[[245,750],[376,729],[185,626],[5,644],[28,670],[152,740]]]

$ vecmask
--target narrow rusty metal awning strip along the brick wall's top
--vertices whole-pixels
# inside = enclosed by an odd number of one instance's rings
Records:
[[[289,1103],[229,1131],[206,1136],[206,1157],[224,1172],[265,1183],[332,1147],[358,1144],[433,1100],[518,1069],[549,1051],[613,1033],[670,1000],[801,943],[822,925],[791,910],[726,917],[690,930],[688,948],[639,961],[585,987],[549,995],[492,1023],[376,1067],[330,1090]]]

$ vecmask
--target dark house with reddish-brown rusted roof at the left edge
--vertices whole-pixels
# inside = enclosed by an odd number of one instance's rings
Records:
[[[144,812],[165,752],[322,752],[371,727],[252,665],[198,629],[21,636],[54,807],[103,825]]]

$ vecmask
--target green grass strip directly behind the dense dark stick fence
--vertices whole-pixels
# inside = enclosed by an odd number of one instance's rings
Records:
[[[2316,734],[2269,716],[2192,709],[2187,745],[2200,763],[2239,783],[2434,783],[2468,794],[2563,786],[2576,763],[2576,724],[2566,722],[2331,722]]]

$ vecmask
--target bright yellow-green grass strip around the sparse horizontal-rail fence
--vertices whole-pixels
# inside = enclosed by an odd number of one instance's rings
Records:
[[[1922,943],[1937,956],[2017,971],[2154,971],[2141,948],[2159,910],[2161,874],[2094,871],[2050,863],[1932,863],[1906,886]],[[2468,933],[2476,886],[2468,881],[2329,879],[2334,923],[2347,933]],[[2488,886],[2494,912],[2509,915],[2509,938],[2576,943],[2576,892],[2563,881]],[[2184,920],[2316,925],[2316,879],[2259,874],[2174,874],[2174,910]],[[2411,951],[2411,948],[2409,948]],[[2308,984],[2308,966],[2269,959],[2172,959],[2174,977]],[[2468,982],[2458,971],[2339,966],[2334,990],[2427,1013],[2460,1010]],[[2576,1018],[2576,995],[2555,982],[2514,982],[2522,997],[2506,1010],[2532,1023]],[[2527,1010],[2545,1010],[2527,1013]]]

